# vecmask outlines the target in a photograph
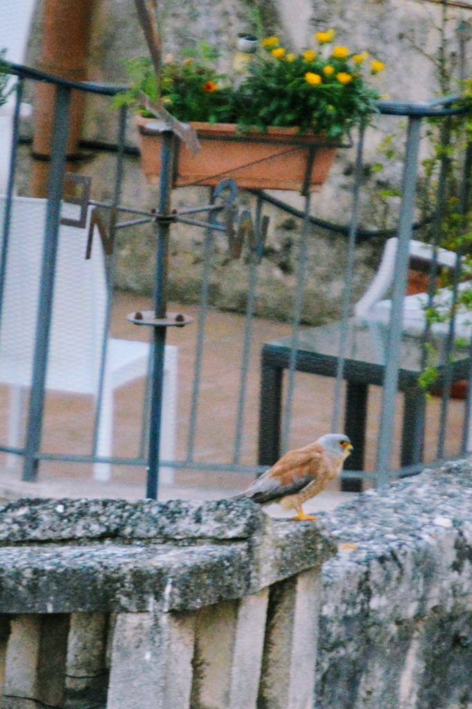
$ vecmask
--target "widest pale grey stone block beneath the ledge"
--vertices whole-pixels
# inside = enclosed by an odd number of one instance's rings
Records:
[[[107,709],[188,709],[195,614],[120,613]]]

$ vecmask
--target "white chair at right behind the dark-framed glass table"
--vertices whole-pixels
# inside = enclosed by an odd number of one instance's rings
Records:
[[[386,241],[384,254],[375,277],[362,298],[354,306],[355,316],[368,320],[388,323],[390,320],[391,300],[384,298],[393,284],[395,272],[395,259],[398,239],[391,238]],[[410,261],[420,261],[425,264],[433,262],[433,247],[414,239],[410,240]],[[447,249],[437,250],[437,264],[439,267],[454,269],[457,255]],[[459,284],[459,289],[470,288],[470,281]],[[451,302],[450,289],[439,289],[434,295],[434,306],[439,313],[447,314]],[[425,306],[427,294],[418,293],[403,298],[403,329],[412,335],[419,335],[425,329]],[[433,323],[431,326],[434,335],[447,335],[449,322]],[[472,313],[464,307],[459,307],[456,312],[455,332],[457,337],[471,337]]]

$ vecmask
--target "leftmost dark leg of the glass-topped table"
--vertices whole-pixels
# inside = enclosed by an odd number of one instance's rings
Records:
[[[260,369],[259,465],[272,465],[280,458],[282,369],[267,362]]]

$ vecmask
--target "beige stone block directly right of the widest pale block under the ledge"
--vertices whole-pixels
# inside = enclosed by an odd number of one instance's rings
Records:
[[[192,707],[255,709],[267,598],[265,588],[199,611]]]

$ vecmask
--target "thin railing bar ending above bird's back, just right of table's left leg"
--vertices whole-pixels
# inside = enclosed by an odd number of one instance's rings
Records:
[[[300,256],[297,272],[297,290],[295,292],[294,318],[292,324],[292,342],[290,350],[290,364],[287,384],[287,398],[284,406],[284,425],[282,433],[282,453],[287,452],[290,440],[290,421],[292,418],[292,403],[295,389],[295,369],[297,364],[297,349],[300,331],[301,306],[303,305],[303,291],[306,277],[306,262],[308,250],[308,233],[310,226],[310,192],[305,196],[304,220],[300,235]]]

